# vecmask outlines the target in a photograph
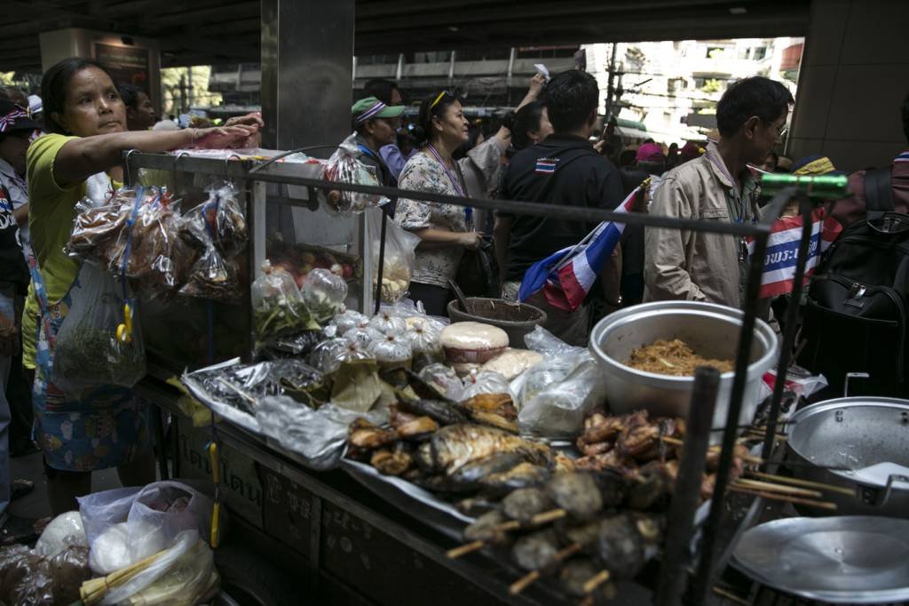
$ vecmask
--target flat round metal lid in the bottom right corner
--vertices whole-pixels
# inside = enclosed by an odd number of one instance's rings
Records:
[[[909,600],[909,520],[785,518],[744,533],[733,565],[755,581],[810,600]]]

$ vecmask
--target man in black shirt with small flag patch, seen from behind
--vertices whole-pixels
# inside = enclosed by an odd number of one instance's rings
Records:
[[[617,207],[622,201],[622,180],[589,141],[598,100],[594,76],[578,70],[554,76],[543,94],[554,133],[514,155],[504,175],[501,196],[555,206]],[[516,298],[527,268],[564,247],[574,246],[594,227],[553,217],[496,217],[495,249],[503,268],[503,297]],[[621,267],[621,248],[616,247],[601,274],[607,307],[618,307]],[[544,328],[568,343],[586,344],[590,328],[586,305],[566,312],[550,306],[542,292],[526,302],[544,309],[548,316]]]

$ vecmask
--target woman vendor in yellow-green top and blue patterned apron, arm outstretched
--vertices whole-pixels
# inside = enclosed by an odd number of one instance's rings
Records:
[[[75,497],[91,491],[93,470],[116,467],[125,486],[155,480],[148,410],[131,390],[105,387],[74,399],[55,387],[54,338],[80,268],[63,252],[75,203],[86,195],[104,197],[105,190],[119,186],[125,150],[239,147],[262,123],[250,117],[245,126],[127,132],[125,106],[110,75],[76,57],[47,70],[41,96],[49,134],[36,139],[26,157],[28,225],[38,267],[25,306],[23,350],[24,363],[35,366],[35,429],[51,509],[58,514],[77,509]]]

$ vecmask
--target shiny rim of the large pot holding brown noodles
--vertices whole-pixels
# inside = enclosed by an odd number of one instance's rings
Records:
[[[622,328],[627,322],[636,318],[645,318],[647,316],[669,312],[697,313],[702,317],[716,318],[725,322],[732,321],[739,325],[741,325],[742,318],[744,318],[744,312],[741,310],[718,305],[716,303],[704,303],[700,301],[654,301],[652,303],[642,303],[614,312],[600,320],[591,333],[590,347],[594,348],[596,358],[601,364],[607,364],[614,369],[619,369],[629,375],[633,375],[635,379],[639,379],[644,383],[653,384],[658,382],[654,387],[663,387],[666,389],[691,389],[691,385],[694,383],[694,377],[674,377],[672,375],[662,375],[655,372],[633,369],[610,357],[601,347],[601,344],[604,343],[611,333],[618,328]],[[764,355],[748,365],[747,378],[749,380],[757,379],[759,376],[762,376],[764,374],[764,368],[768,366],[768,362],[777,355],[777,339],[773,328],[770,328],[766,322],[759,318],[755,319],[754,338],[757,338],[763,346]],[[734,376],[735,371],[730,370],[729,372],[722,373],[720,379],[732,380]]]

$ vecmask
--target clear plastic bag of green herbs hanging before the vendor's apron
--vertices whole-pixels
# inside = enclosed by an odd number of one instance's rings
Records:
[[[145,348],[135,307],[130,308],[132,338],[125,343],[117,338],[117,327],[125,322],[123,288],[87,262],[77,279],[70,291],[72,305],[56,336],[55,385],[76,399],[100,386],[133,387],[145,377]]]

